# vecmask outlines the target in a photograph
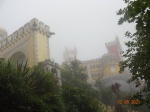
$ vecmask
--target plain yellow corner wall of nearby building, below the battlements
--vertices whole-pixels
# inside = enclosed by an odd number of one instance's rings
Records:
[[[49,59],[49,47],[48,47],[48,38],[43,33],[36,31],[35,33],[30,33],[30,41],[29,41],[29,66],[35,65],[36,62],[45,61],[45,59]],[[36,63],[37,64],[37,63]]]

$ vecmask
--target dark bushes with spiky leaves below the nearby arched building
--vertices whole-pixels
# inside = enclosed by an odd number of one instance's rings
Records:
[[[53,75],[11,61],[0,61],[0,110],[64,112],[60,88]]]

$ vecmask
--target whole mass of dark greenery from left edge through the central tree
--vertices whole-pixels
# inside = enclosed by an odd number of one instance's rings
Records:
[[[86,82],[78,61],[62,69],[63,86],[45,73],[41,64],[33,68],[10,60],[0,61],[0,110],[16,112],[104,112],[96,90]]]

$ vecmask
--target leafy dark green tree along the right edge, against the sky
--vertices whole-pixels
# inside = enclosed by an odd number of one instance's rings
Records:
[[[139,79],[145,81],[144,89],[135,94],[143,104],[150,107],[150,0],[124,0],[127,6],[118,11],[122,17],[118,24],[124,22],[135,23],[135,32],[129,31],[125,36],[130,38],[126,42],[127,50],[123,52],[125,60],[121,62],[121,71],[129,68],[133,77],[130,81],[137,81],[137,87],[140,86]]]

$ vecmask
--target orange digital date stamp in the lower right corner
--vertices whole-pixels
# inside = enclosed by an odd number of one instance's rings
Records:
[[[141,102],[140,100],[118,100],[117,103],[120,105],[139,105]]]

